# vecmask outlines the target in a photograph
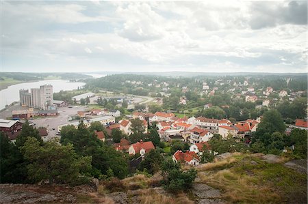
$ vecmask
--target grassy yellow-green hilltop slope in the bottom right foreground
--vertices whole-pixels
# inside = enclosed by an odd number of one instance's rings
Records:
[[[257,156],[235,154],[198,167],[201,182],[224,191],[229,203],[305,203],[307,175]]]

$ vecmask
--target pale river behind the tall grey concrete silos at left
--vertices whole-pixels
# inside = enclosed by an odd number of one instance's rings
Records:
[[[44,80],[31,83],[20,83],[12,85],[6,89],[0,91],[0,110],[5,108],[5,105],[12,104],[12,102],[19,101],[19,90],[20,89],[31,89],[39,88],[40,85],[50,84],[53,85],[53,93],[63,91],[69,91],[77,89],[86,85],[81,82],[69,82],[65,80]],[[30,91],[30,90],[29,90]]]

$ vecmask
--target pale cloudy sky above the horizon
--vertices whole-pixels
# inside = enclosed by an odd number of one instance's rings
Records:
[[[1,72],[307,72],[307,1],[1,1]]]

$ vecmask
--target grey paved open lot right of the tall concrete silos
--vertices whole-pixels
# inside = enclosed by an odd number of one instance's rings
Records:
[[[68,121],[68,117],[76,115],[77,111],[85,111],[86,106],[73,106],[73,108],[63,107],[59,108],[57,111],[59,115],[56,117],[42,117],[40,119],[32,119],[31,121],[36,123],[36,128],[45,127],[49,130],[48,137],[49,139],[53,137],[58,137],[57,133],[57,126],[60,126],[65,123],[70,123],[73,121]],[[55,130],[53,130],[53,128]]]

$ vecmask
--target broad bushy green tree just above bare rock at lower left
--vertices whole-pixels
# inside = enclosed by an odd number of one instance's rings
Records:
[[[40,142],[35,138],[29,138],[23,147],[20,147],[25,159],[31,162],[27,165],[29,178],[35,182],[42,179],[49,179],[49,184],[53,181],[59,183],[72,183],[80,175],[80,167],[86,160],[90,169],[89,158],[78,158],[73,149],[73,145],[59,145],[55,141],[49,141],[40,146]]]

